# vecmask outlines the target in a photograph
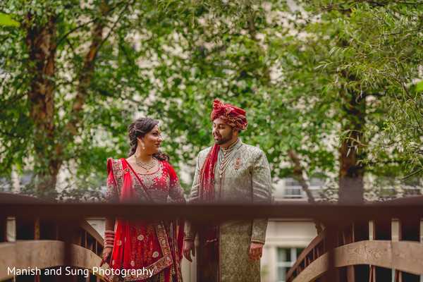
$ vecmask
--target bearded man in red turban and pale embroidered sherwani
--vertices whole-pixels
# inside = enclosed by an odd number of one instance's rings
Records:
[[[245,111],[214,100],[215,145],[198,154],[190,203],[271,203],[271,176],[264,152],[244,144]],[[197,281],[260,281],[267,219],[217,221],[198,230]],[[195,255],[195,227],[185,227],[184,256]]]

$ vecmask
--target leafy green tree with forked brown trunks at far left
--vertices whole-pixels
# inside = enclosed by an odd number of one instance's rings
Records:
[[[122,133],[147,96],[124,43],[133,9],[134,1],[1,2],[19,21],[0,33],[2,174],[32,164],[32,192],[50,200],[63,165],[80,188],[101,183],[93,173],[126,151]]]

